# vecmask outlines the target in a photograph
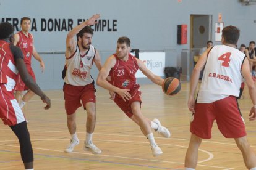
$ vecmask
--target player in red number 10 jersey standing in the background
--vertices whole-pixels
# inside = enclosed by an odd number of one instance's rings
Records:
[[[28,73],[30,74],[30,76],[32,76],[34,81],[36,81],[34,71],[32,70],[32,67],[31,67],[32,55],[36,60],[38,60],[38,62],[40,62],[40,68],[42,71],[45,70],[45,63],[41,59],[40,55],[36,52],[36,49],[33,43],[34,42],[33,35],[29,33],[31,28],[30,23],[31,23],[30,18],[28,17],[22,18],[20,23],[21,31],[19,31],[14,35],[14,46],[18,46],[20,47],[20,49],[22,49],[22,52],[24,55],[24,62],[26,64]],[[16,90],[15,98],[19,103],[20,108],[22,108],[28,102],[28,100],[30,100],[33,97],[33,95],[35,95],[33,91],[30,91],[28,87],[25,86],[20,76],[17,82],[17,86],[15,87],[15,90]],[[27,90],[28,92],[25,95],[23,95]]]

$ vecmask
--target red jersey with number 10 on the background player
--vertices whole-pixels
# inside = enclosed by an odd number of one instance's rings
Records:
[[[28,33],[26,36],[22,31],[19,31],[20,41],[16,46],[20,47],[24,55],[24,62],[31,65],[31,57],[33,52],[33,38],[32,34]]]

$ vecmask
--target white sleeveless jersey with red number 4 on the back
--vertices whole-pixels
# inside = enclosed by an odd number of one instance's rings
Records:
[[[244,78],[241,68],[245,55],[226,45],[214,46],[208,53],[197,103],[212,103],[229,95],[238,97]]]

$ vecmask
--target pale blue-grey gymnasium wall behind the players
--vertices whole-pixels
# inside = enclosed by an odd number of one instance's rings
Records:
[[[101,14],[100,26],[94,26],[93,45],[103,62],[116,49],[119,36],[128,36],[132,48],[142,52],[166,52],[166,66],[181,66],[181,53],[190,49],[190,15],[223,15],[224,26],[241,29],[238,44],[256,41],[256,5],[245,6],[239,0],[75,0],[35,1],[0,0],[0,22],[10,22],[19,30],[20,18],[32,18],[35,47],[45,61],[45,73],[33,60],[38,84],[43,89],[61,89],[67,32],[95,13]],[[188,25],[188,43],[177,44],[177,25]],[[214,24],[213,24],[214,25]],[[212,37],[214,38],[214,28]],[[213,44],[220,44],[215,42]],[[157,56],[156,56],[157,57]],[[98,71],[93,68],[96,79]],[[145,78],[140,83],[148,83]]]

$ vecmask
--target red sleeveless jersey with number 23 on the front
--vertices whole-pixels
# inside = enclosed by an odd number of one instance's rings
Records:
[[[137,84],[135,74],[139,69],[137,60],[134,56],[129,54],[128,60],[125,62],[116,57],[116,64],[111,68],[109,76],[111,76],[111,84],[120,89],[130,89],[131,91],[139,89],[140,85]],[[129,92],[131,92],[129,91]]]

